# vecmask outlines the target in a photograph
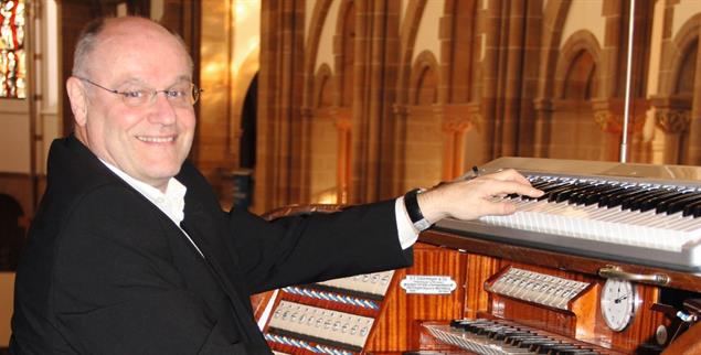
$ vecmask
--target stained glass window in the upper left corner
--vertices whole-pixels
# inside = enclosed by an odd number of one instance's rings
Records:
[[[26,97],[24,0],[0,0],[0,97]]]

